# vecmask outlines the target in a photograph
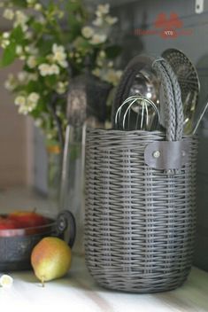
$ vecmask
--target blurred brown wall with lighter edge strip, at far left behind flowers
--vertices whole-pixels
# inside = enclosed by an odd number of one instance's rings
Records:
[[[4,9],[0,9],[3,16]],[[7,31],[11,22],[0,19],[0,30]],[[2,51],[0,49],[0,56]],[[31,119],[19,115],[11,92],[4,88],[8,74],[16,74],[21,63],[0,68],[0,189],[34,183],[34,127]]]

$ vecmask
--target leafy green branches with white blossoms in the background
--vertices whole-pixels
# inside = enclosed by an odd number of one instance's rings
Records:
[[[81,0],[4,0],[4,19],[12,29],[0,34],[1,66],[15,59],[22,70],[9,74],[5,87],[16,95],[19,113],[35,119],[50,140],[64,144],[66,93],[73,76],[89,71],[113,86],[121,72],[114,68],[119,49],[110,40],[117,18],[109,4],[99,4],[90,17]],[[64,27],[63,27],[64,25]]]

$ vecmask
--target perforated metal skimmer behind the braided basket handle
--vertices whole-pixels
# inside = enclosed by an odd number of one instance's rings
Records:
[[[162,53],[162,57],[172,66],[180,84],[184,113],[184,133],[189,134],[193,129],[194,113],[200,90],[196,68],[183,52],[176,49],[167,49]]]

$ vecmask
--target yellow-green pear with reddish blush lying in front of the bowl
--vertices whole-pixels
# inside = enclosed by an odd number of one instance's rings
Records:
[[[71,266],[71,249],[60,238],[42,238],[31,254],[35,276],[42,282],[63,277]]]

